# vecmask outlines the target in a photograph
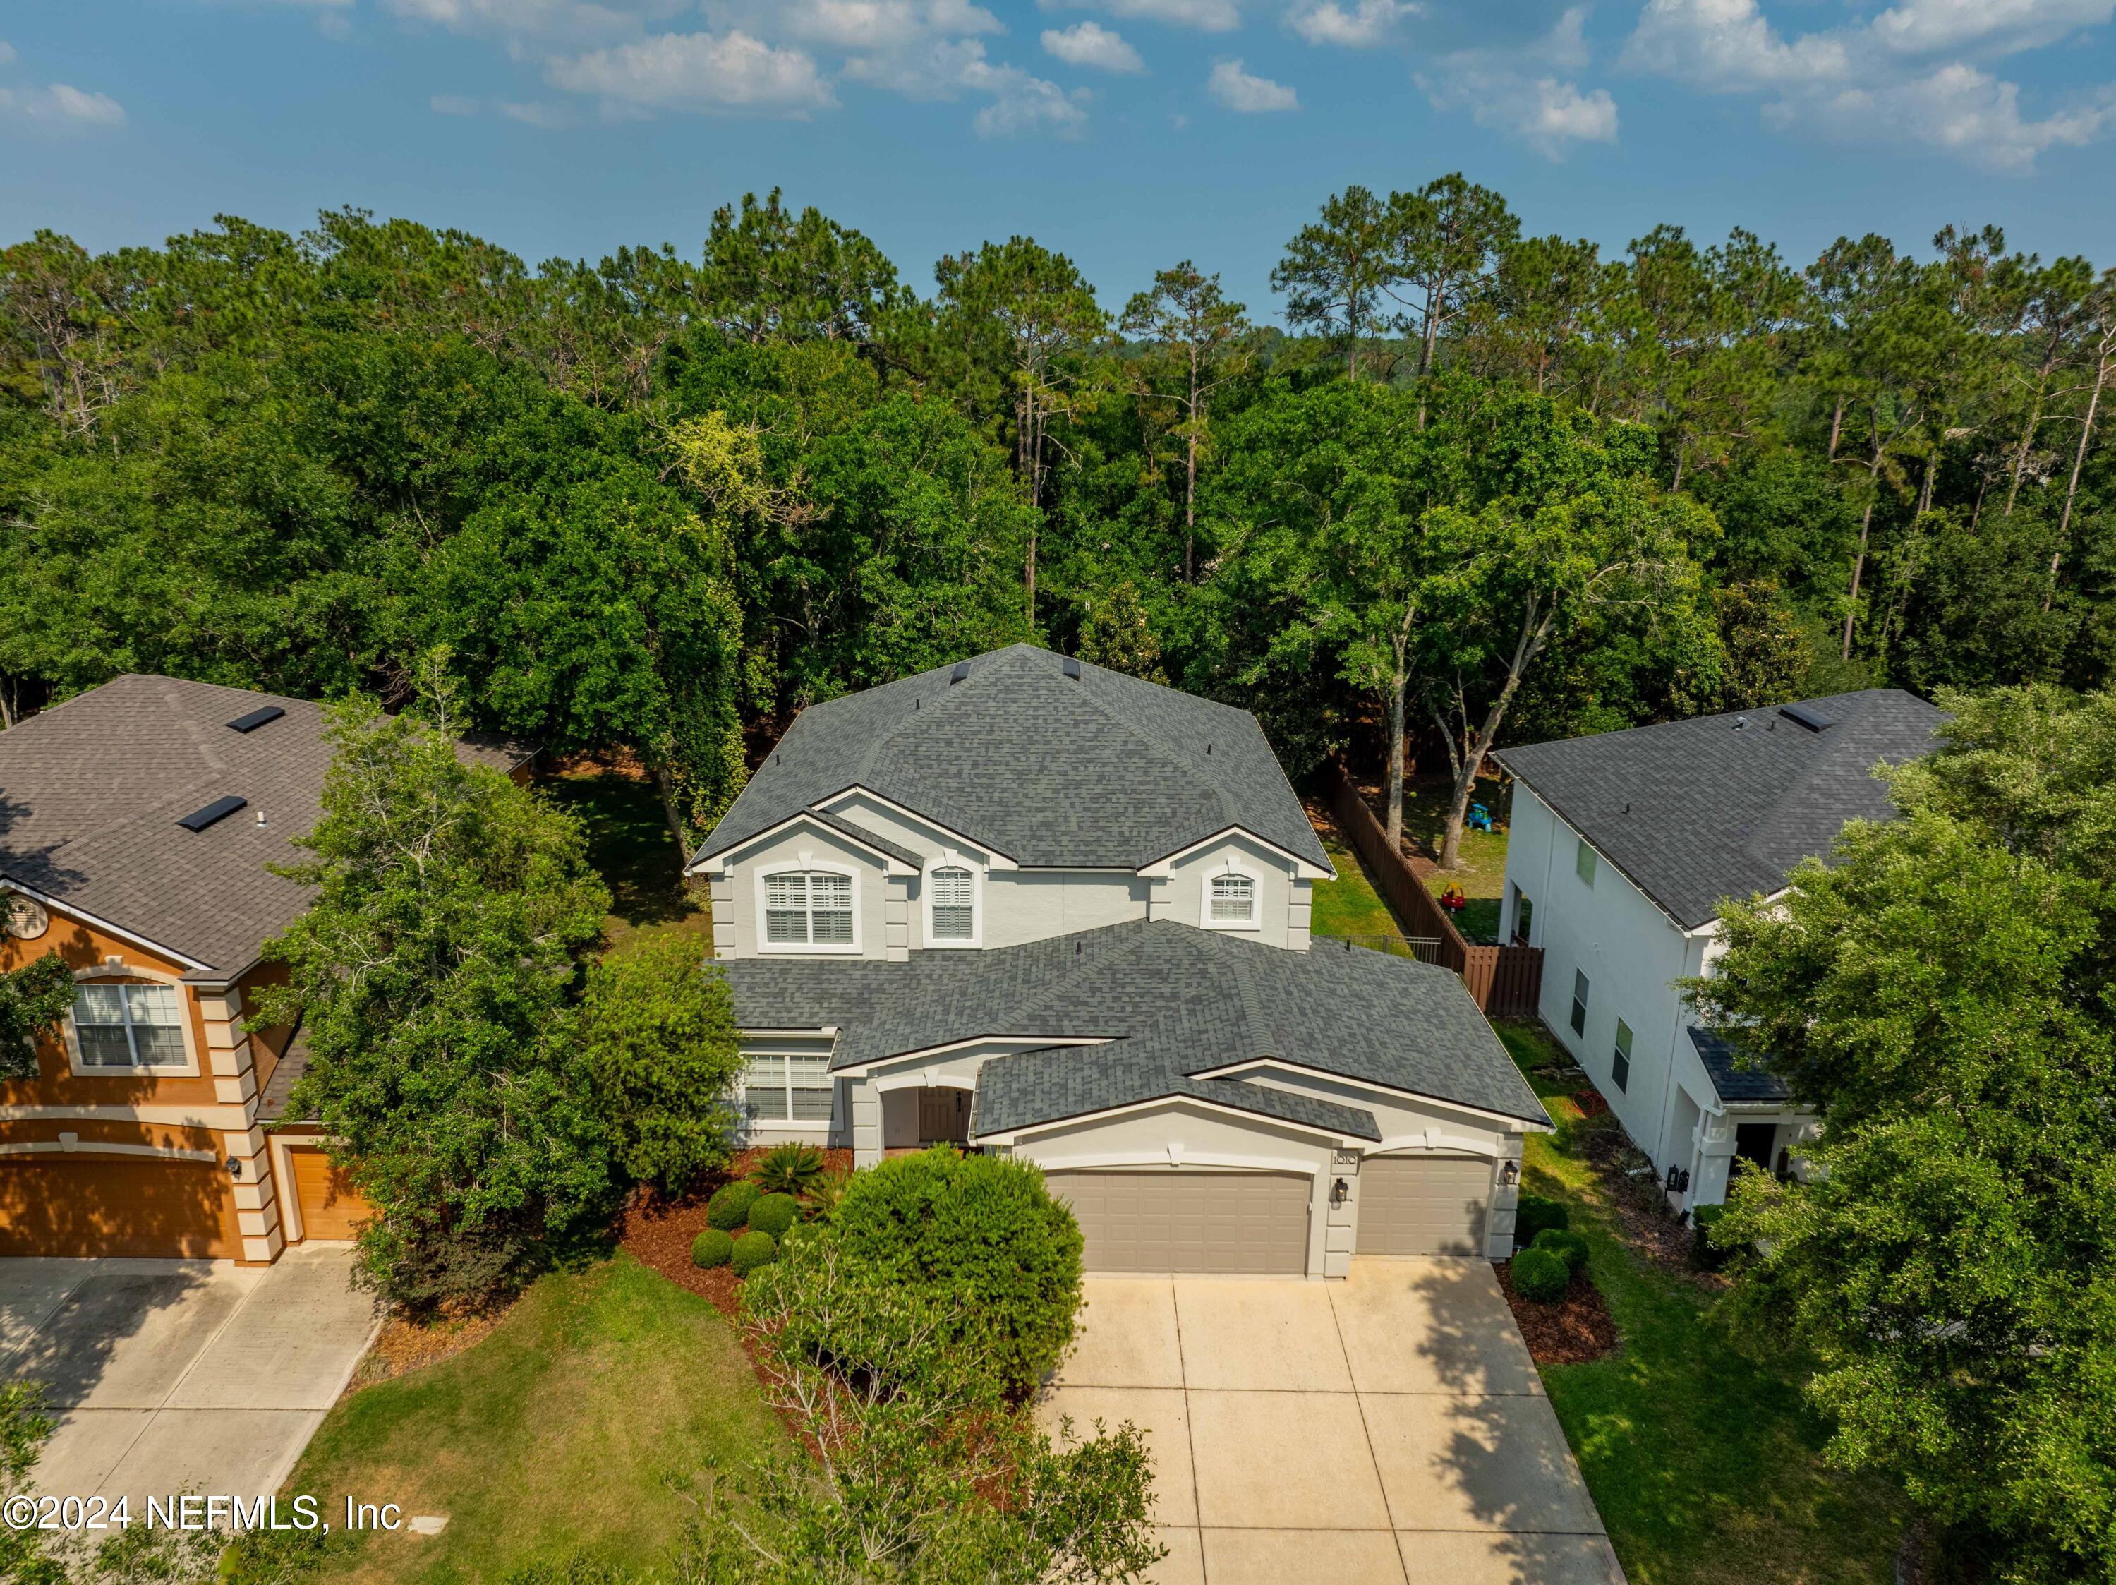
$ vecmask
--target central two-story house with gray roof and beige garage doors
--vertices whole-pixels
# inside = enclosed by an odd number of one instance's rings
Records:
[[[1246,711],[997,650],[802,711],[690,868],[755,1141],[1033,1160],[1090,1270],[1511,1249],[1543,1107],[1456,976],[1310,940]]]

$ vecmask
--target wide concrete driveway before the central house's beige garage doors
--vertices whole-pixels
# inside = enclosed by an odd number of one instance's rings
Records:
[[[1170,1585],[1621,1585],[1492,1268],[1088,1278],[1041,1416],[1153,1447]]]

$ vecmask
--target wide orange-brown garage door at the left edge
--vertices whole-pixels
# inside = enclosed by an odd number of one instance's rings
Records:
[[[0,1255],[241,1253],[235,1196],[218,1162],[0,1155]]]

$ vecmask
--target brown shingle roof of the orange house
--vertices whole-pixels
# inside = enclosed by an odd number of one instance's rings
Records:
[[[286,715],[229,728],[267,705]],[[501,770],[529,753],[499,736],[466,741],[468,758]],[[315,825],[328,766],[309,700],[116,677],[0,732],[0,882],[233,973],[309,901],[264,866],[300,857],[292,838]],[[245,806],[201,832],[178,825],[229,796]]]

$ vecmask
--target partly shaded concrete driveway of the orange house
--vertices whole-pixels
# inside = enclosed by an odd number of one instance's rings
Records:
[[[277,1265],[0,1259],[0,1378],[59,1414],[36,1483],[57,1496],[273,1492],[379,1323],[349,1246]]]

